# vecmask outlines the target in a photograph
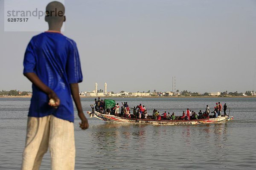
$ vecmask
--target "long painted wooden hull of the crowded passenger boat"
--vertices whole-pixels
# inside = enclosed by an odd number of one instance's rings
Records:
[[[134,123],[134,124],[151,124],[151,125],[198,125],[205,123],[216,123],[224,122],[233,119],[233,116],[221,116],[211,119],[196,119],[196,120],[154,120],[154,119],[128,119],[124,117],[118,117],[109,114],[102,114],[99,112],[89,112],[87,113],[90,117],[95,117],[97,119],[103,120],[105,122],[111,123]]]

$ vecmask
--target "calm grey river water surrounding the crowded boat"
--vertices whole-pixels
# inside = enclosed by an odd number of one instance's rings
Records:
[[[130,107],[142,103],[152,114],[186,108],[198,112],[227,103],[234,119],[208,125],[120,125],[89,118],[88,130],[75,119],[76,170],[256,169],[256,98],[115,98]],[[81,99],[90,111],[92,98]],[[0,169],[20,169],[30,99],[0,98]],[[75,113],[76,114],[76,113]],[[49,152],[41,170],[50,169]]]

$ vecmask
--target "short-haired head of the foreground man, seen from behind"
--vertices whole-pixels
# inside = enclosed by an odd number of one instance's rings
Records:
[[[53,1],[48,3],[45,11],[45,21],[49,25],[62,25],[66,20],[65,17],[65,7],[62,3],[58,1]]]

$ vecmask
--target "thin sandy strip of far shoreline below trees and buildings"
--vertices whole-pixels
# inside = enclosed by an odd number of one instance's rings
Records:
[[[0,96],[0,98],[31,98],[32,96]],[[100,98],[252,98],[256,96],[100,96]],[[80,98],[98,98],[98,96],[80,96]]]

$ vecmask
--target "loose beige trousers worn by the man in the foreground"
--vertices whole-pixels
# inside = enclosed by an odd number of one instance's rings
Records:
[[[52,170],[74,170],[74,124],[49,115],[28,117],[22,170],[38,170],[44,153],[51,154]]]

